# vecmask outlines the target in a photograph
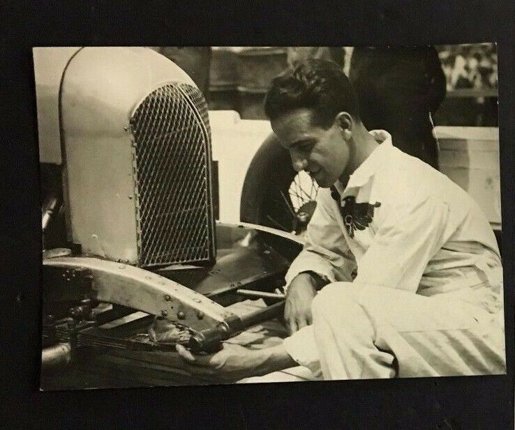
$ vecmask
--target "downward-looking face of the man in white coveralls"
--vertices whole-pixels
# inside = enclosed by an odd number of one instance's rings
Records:
[[[348,142],[335,123],[328,130],[311,123],[311,109],[296,109],[271,121],[281,144],[290,151],[293,168],[304,170],[320,187],[330,187],[349,162]]]

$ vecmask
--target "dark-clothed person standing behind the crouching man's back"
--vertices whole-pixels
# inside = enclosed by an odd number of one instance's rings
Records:
[[[435,48],[357,47],[349,79],[365,127],[387,130],[394,146],[438,169],[431,115],[446,90]]]

